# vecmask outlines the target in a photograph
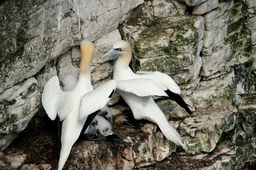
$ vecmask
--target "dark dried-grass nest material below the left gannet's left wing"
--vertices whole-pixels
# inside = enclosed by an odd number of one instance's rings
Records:
[[[27,153],[24,164],[51,164],[52,168],[56,169],[60,154],[56,122],[43,118],[40,124],[35,125],[35,121],[31,121],[8,150]]]

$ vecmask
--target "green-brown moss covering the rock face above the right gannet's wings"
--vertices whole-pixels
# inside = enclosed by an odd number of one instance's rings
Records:
[[[194,27],[196,19],[195,16],[159,17],[150,27],[141,27],[134,38],[134,52],[138,59],[132,61],[132,67],[170,75],[190,73],[189,67],[193,65],[198,45],[198,30]]]

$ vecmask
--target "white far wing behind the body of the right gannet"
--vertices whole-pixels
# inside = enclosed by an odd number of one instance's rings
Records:
[[[165,73],[160,73],[158,71],[137,71],[136,76],[140,78],[148,78],[150,80],[153,80],[156,83],[156,85],[164,91],[169,89],[171,92],[175,94],[180,94],[180,88],[177,85],[177,83],[175,83],[175,81]]]

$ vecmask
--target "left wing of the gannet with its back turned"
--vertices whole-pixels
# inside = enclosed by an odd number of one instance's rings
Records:
[[[51,120],[54,120],[60,111],[63,102],[67,99],[67,92],[63,92],[60,89],[58,76],[53,76],[44,86],[42,94],[42,104],[44,110]],[[60,115],[60,119],[63,120],[67,115]]]

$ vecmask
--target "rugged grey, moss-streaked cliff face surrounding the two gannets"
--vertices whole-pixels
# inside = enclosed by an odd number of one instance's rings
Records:
[[[111,78],[115,64],[115,57],[102,60],[102,55],[122,38],[132,45],[134,71],[169,74],[193,106],[188,117],[172,101],[157,99],[188,149],[167,141],[150,122],[135,122],[135,129],[120,127],[132,116],[115,95],[109,104],[116,136],[79,141],[67,169],[234,169],[255,162],[255,11],[250,0],[3,1],[0,149],[22,136],[32,118],[43,124],[39,114],[35,117],[42,110],[42,89],[53,75],[78,75],[82,39],[96,47],[92,82],[97,86]],[[33,162],[28,150],[15,152],[15,147],[0,154],[0,167],[56,166],[56,161]]]

